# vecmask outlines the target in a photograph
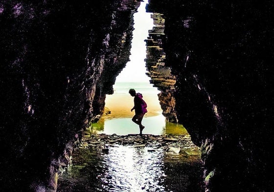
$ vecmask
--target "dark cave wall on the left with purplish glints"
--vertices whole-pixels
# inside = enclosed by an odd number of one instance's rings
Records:
[[[0,2],[0,191],[56,190],[60,155],[102,113],[129,59],[138,5]]]

